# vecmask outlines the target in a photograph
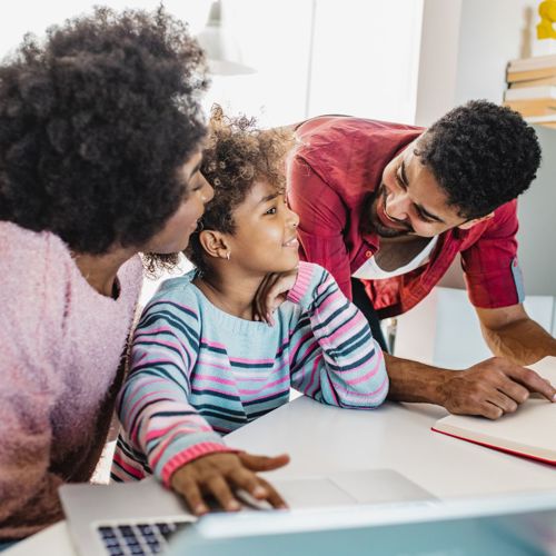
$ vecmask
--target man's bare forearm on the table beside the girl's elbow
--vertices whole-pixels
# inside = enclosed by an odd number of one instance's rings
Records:
[[[454,371],[385,354],[390,379],[388,398],[396,401],[425,401],[445,405],[443,386]]]

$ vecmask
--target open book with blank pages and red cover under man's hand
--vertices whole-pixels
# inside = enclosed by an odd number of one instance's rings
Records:
[[[545,357],[528,368],[556,385],[556,357]],[[556,403],[537,396],[498,420],[449,415],[437,420],[433,430],[556,465]]]

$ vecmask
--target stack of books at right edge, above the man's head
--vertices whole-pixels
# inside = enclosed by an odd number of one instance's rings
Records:
[[[504,105],[530,122],[556,127],[556,54],[512,60]]]

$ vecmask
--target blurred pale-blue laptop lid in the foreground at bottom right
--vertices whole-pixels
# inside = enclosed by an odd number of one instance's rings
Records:
[[[556,554],[556,493],[211,515],[168,556]]]

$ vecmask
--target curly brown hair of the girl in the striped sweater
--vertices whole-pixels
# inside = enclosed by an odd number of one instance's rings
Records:
[[[257,181],[266,181],[284,191],[286,156],[292,145],[290,132],[258,129],[254,118],[230,118],[215,106],[201,166],[203,176],[215,189],[215,197],[205,208],[200,228],[234,234],[234,211]],[[185,255],[200,272],[207,271],[198,232],[191,235]]]

